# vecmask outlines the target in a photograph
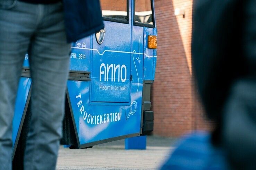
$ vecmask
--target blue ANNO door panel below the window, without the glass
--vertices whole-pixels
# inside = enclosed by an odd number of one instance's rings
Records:
[[[91,102],[130,102],[131,26],[104,21],[101,45],[93,35]],[[108,96],[108,97],[105,97]]]

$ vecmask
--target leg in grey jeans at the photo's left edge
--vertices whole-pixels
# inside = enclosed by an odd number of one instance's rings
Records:
[[[34,23],[26,10],[15,0],[0,1],[0,170],[11,169],[16,93]]]

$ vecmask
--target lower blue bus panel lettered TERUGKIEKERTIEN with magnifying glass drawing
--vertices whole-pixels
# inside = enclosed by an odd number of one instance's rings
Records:
[[[89,81],[69,80],[67,89],[79,148],[118,136],[139,135],[142,84],[139,84],[138,89],[137,83],[132,83],[130,105],[90,105]]]

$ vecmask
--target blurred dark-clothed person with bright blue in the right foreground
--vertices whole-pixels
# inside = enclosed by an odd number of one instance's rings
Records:
[[[193,73],[216,127],[185,137],[163,169],[256,169],[256,0],[195,0],[193,12]]]

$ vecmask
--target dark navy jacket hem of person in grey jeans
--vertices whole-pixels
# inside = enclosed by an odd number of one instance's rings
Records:
[[[99,0],[63,0],[63,6],[68,42],[104,28]]]

